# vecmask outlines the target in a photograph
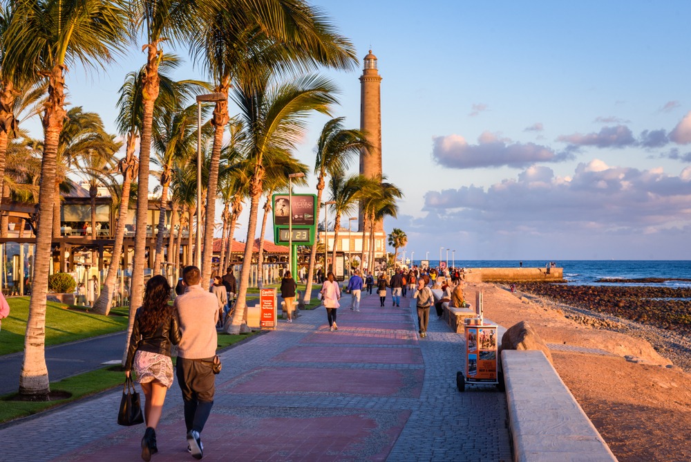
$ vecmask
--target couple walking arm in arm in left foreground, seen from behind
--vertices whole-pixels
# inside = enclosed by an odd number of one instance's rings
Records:
[[[171,345],[178,346],[176,376],[182,391],[187,450],[202,459],[200,434],[214,405],[215,376],[211,362],[216,355],[216,296],[201,286],[196,266],[182,270],[184,293],[169,304],[171,287],[158,275],[149,279],[144,302],[135,315],[125,374],[134,369],[144,391],[146,432],[142,438],[142,459],[158,452],[156,427],[168,389],[173,385]]]

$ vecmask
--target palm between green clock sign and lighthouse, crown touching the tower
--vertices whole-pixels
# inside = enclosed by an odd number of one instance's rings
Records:
[[[316,145],[316,162],[314,163],[314,174],[317,178],[315,223],[319,223],[321,196],[327,176],[343,174],[348,170],[355,156],[358,156],[361,151],[367,152],[370,148],[370,144],[362,131],[343,129],[343,120],[343,118],[335,118],[326,122]],[[316,255],[316,246],[312,246],[310,264],[307,267],[305,304],[310,303]],[[324,264],[324,268],[326,268],[326,264]]]

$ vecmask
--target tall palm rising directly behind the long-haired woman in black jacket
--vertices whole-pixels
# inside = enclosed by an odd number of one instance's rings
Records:
[[[159,64],[163,56],[161,44],[171,40],[186,41],[196,30],[198,12],[207,2],[197,0],[131,0],[132,26],[144,35],[146,66],[142,73],[142,130],[140,133],[139,185],[137,194],[137,227],[130,291],[130,323],[134,311],[142,305],[144,264],[146,263],[146,216],[149,212],[149,161],[153,111],[160,93]],[[140,30],[141,29],[141,30]],[[133,34],[134,35],[134,34]]]

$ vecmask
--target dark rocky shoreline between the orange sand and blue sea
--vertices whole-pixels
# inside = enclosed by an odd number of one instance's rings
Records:
[[[517,284],[516,289],[579,324],[646,340],[664,358],[691,373],[691,301],[666,299],[691,297],[689,289],[540,283]]]

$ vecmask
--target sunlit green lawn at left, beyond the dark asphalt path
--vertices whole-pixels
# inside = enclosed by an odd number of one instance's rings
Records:
[[[2,320],[0,355],[23,351],[29,297],[10,297],[10,315]],[[48,302],[46,307],[46,347],[127,329],[127,308],[115,308],[108,316],[67,309]]]

